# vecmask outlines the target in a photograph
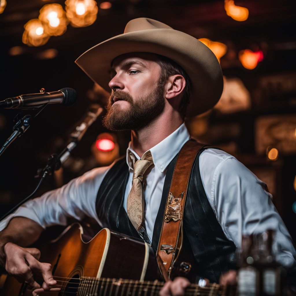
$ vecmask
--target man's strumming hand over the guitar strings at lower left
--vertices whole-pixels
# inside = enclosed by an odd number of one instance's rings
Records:
[[[23,248],[8,242],[4,246],[4,253],[6,257],[5,269],[7,272],[19,282],[26,281],[34,289],[34,296],[42,291],[57,289],[54,287],[57,281],[53,279],[51,264],[38,261],[40,258],[40,251],[38,249]],[[42,287],[35,281],[34,276],[43,278],[44,283]],[[55,291],[58,292],[59,289]]]

